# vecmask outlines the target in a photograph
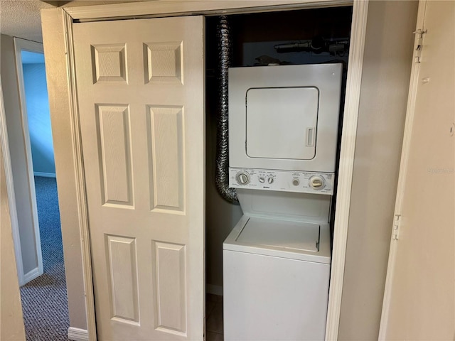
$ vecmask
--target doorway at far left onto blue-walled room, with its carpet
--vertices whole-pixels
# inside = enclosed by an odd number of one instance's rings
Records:
[[[38,276],[24,278],[21,283],[26,339],[68,340],[68,298],[44,55],[38,43],[16,38],[15,46],[30,201],[38,223],[36,254],[42,264]]]

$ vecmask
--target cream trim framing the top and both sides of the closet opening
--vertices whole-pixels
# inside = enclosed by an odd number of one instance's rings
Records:
[[[98,21],[102,18],[119,18],[141,15],[177,16],[178,14],[217,15],[220,13],[251,13],[254,11],[277,11],[283,9],[303,9],[309,7],[343,6],[353,4],[353,21],[351,29],[351,44],[346,84],[346,102],[344,108],[343,135],[341,139],[341,157],[338,174],[338,207],[335,216],[335,234],[333,237],[333,261],[331,267],[331,290],[328,298],[328,316],[326,324],[326,340],[337,340],[341,312],[341,297],[343,293],[343,275],[346,258],[346,241],[350,210],[350,194],[353,178],[353,161],[355,152],[356,130],[358,121],[358,104],[360,102],[360,85],[363,70],[363,48],[365,45],[366,21],[368,16],[368,0],[365,1],[308,1],[308,0],[270,0],[255,1],[245,5],[239,1],[147,1],[139,4],[113,4],[102,6],[67,7],[65,9],[49,9],[49,15],[62,16],[65,35],[65,51],[53,50],[53,58],[66,53],[68,63],[68,83],[60,79],[59,87],[68,90],[70,94],[69,116],[73,140],[73,158],[75,169],[73,176],[77,183],[77,217],[80,228],[82,247],[82,263],[85,286],[85,304],[87,325],[90,340],[96,340],[95,305],[93,300],[92,271],[90,258],[90,239],[87,219],[87,203],[85,200],[84,174],[82,164],[82,146],[80,144],[79,118],[77,113],[77,95],[75,92],[75,64],[73,58],[73,19],[80,21]],[[138,8],[141,11],[138,12]],[[54,11],[50,14],[50,11]],[[61,13],[62,11],[63,13]],[[43,25],[44,26],[44,25]],[[50,33],[50,32],[49,32]]]

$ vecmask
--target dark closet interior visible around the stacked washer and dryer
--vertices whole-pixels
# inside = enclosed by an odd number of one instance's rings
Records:
[[[341,127],[346,94],[352,6],[228,15],[230,67],[343,64],[334,193],[331,200],[331,244],[336,210]],[[215,186],[219,112],[219,16],[205,18],[206,225],[205,276],[207,340],[223,335],[223,241],[242,217],[239,205],[223,199]]]

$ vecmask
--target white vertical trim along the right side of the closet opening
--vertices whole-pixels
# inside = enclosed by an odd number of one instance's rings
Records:
[[[348,79],[346,80],[346,102],[344,104],[343,134],[341,136],[340,165],[336,195],[335,224],[333,227],[333,250],[326,340],[338,340],[341,298],[343,295],[346,244],[350,195],[353,181],[355,141],[357,139],[358,107],[362,85],[363,51],[368,17],[368,0],[354,1],[353,20],[350,30]]]

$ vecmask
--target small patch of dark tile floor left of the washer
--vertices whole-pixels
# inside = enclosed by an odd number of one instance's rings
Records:
[[[207,330],[206,341],[223,341],[223,296],[205,296],[205,329]]]

